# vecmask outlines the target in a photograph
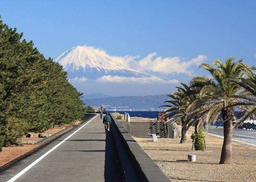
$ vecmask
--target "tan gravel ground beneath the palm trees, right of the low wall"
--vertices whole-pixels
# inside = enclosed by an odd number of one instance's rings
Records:
[[[188,131],[191,135],[192,131]],[[173,182],[255,182],[256,147],[232,143],[233,164],[218,164],[223,139],[208,135],[207,151],[191,151],[192,142],[178,144],[180,139],[134,138]],[[188,162],[187,154],[196,154],[196,162]]]

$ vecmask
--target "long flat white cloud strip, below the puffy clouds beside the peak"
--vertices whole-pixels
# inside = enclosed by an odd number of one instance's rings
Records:
[[[102,76],[97,79],[98,82],[112,82],[112,83],[138,83],[138,84],[150,84],[150,83],[159,83],[159,84],[177,84],[178,80],[165,80],[157,76],[150,77],[124,77],[124,76]]]

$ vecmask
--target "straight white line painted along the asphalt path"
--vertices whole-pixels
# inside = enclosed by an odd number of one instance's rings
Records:
[[[99,114],[97,114],[99,115]],[[97,116],[96,115],[96,116]],[[96,117],[94,116],[93,119]],[[93,119],[91,119],[90,121],[92,121]],[[23,169],[22,171],[20,171],[17,175],[15,175],[14,177],[12,177],[9,181],[7,182],[13,182],[15,181],[18,177],[20,177],[21,175],[23,175],[27,170],[29,170],[31,167],[33,167],[35,164],[37,164],[39,161],[41,161],[45,156],[47,156],[49,153],[51,153],[53,150],[55,150],[58,146],[60,146],[62,143],[64,143],[66,140],[68,140],[73,134],[75,134],[77,131],[79,131],[81,128],[83,128],[85,125],[87,125],[90,121],[88,121],[87,123],[85,123],[83,126],[81,126],[79,129],[77,129],[75,132],[73,132],[71,135],[69,135],[66,139],[64,139],[63,141],[61,141],[60,143],[58,143],[57,145],[55,145],[51,150],[49,150],[48,152],[46,152],[45,154],[43,154],[40,158],[38,158],[37,160],[35,160],[32,164],[30,164],[29,166],[27,166],[25,169]]]

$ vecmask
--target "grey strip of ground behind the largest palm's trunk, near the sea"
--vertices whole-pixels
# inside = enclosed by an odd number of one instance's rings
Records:
[[[209,133],[223,136],[223,127],[210,126]],[[232,139],[256,145],[256,131],[234,129]]]

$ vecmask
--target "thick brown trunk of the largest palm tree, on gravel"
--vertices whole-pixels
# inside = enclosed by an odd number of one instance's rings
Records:
[[[228,111],[224,110],[222,112],[223,120],[227,120]],[[232,120],[228,119],[224,122],[224,140],[221,151],[221,161],[220,164],[231,164],[232,163],[232,135],[233,135],[233,125]]]

